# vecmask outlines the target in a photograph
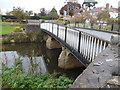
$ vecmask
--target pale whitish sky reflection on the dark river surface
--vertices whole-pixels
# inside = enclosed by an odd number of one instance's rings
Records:
[[[3,51],[0,53],[2,56],[2,62],[7,67],[12,67],[16,60],[22,60],[22,70],[24,73],[41,75],[48,73],[46,64],[42,56],[40,57],[28,57],[19,56],[16,51]]]

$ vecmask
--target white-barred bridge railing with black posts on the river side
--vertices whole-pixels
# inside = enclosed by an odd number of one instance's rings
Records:
[[[87,33],[53,23],[42,23],[42,31],[68,49],[85,67],[108,46],[108,42]]]

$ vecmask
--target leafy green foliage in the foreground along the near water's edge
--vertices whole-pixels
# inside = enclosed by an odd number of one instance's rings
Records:
[[[6,84],[9,88],[69,88],[73,80],[65,75],[58,76],[57,73],[44,74],[41,76],[28,75],[22,72],[22,60],[16,59],[11,68],[2,64],[3,88]],[[8,87],[7,87],[8,88]]]

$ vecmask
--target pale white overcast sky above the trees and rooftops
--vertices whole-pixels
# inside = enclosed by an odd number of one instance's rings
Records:
[[[12,11],[13,7],[21,7],[24,10],[32,10],[35,13],[40,12],[40,8],[45,8],[50,11],[55,7],[59,13],[59,10],[62,6],[65,5],[66,0],[0,0],[0,9],[3,14],[6,12]],[[105,6],[106,3],[109,3],[113,7],[118,7],[118,2],[120,0],[96,0],[98,4],[96,7]],[[78,0],[82,5],[84,0]]]

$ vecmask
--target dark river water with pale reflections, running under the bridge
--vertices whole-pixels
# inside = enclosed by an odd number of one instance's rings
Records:
[[[22,60],[24,73],[41,75],[44,73],[58,72],[70,78],[76,78],[85,68],[61,69],[58,67],[58,57],[61,49],[49,50],[45,44],[22,43],[2,45],[0,56],[6,66],[12,67],[15,60]]]

